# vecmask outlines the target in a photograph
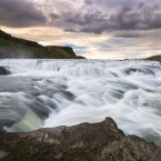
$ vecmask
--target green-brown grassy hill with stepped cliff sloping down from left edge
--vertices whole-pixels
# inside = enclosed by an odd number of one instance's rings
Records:
[[[0,59],[84,59],[70,47],[48,46],[14,38],[0,30]]]

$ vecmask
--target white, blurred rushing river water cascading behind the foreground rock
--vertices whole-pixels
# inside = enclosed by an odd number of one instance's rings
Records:
[[[0,128],[7,132],[98,122],[161,147],[161,66],[148,61],[0,60]]]

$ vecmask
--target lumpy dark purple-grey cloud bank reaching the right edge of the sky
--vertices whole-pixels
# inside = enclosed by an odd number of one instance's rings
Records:
[[[105,14],[85,14],[83,19],[71,18],[70,22],[84,24],[80,31],[102,33],[113,30],[151,30],[161,28],[160,6],[124,7],[109,17]]]

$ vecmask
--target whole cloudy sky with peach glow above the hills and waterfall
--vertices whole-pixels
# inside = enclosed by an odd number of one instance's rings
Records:
[[[88,59],[161,54],[160,0],[0,0],[0,28]]]

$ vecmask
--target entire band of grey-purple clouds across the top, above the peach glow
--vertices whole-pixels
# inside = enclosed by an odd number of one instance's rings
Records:
[[[39,8],[32,0],[0,0],[0,24],[8,27],[59,27],[70,32],[108,33],[161,29],[159,0],[82,0],[73,2],[51,0],[48,8]],[[44,4],[44,3],[43,3]],[[43,12],[46,12],[46,14]],[[53,12],[54,11],[54,12]],[[115,34],[117,37],[117,34]],[[118,37],[139,37],[120,34]]]

